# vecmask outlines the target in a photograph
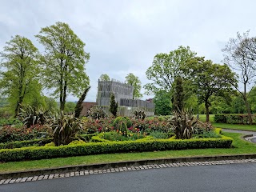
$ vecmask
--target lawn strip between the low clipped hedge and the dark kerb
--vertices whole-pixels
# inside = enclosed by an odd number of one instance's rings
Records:
[[[0,173],[21,170],[45,169],[58,166],[90,165],[95,163],[123,162],[152,158],[178,158],[222,154],[255,154],[256,144],[241,139],[242,134],[223,133],[234,139],[232,148],[201,150],[165,150],[126,154],[97,154],[70,158],[52,158],[25,162],[0,163]]]

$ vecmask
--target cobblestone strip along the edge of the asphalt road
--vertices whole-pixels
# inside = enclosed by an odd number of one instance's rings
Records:
[[[162,164],[148,164],[142,166],[122,166],[117,168],[108,169],[94,169],[94,170],[80,170],[71,171],[62,174],[42,174],[31,177],[20,177],[20,178],[8,178],[0,180],[0,186],[11,183],[18,182],[34,182],[46,179],[54,178],[69,178],[74,176],[90,175],[90,174],[106,174],[114,172],[132,171],[132,170],[148,170],[148,169],[160,169],[160,168],[170,168],[178,166],[210,166],[210,165],[225,165],[225,164],[235,164],[235,163],[249,163],[256,162],[254,159],[240,159],[240,160],[220,160],[220,161],[205,161],[205,162],[174,162],[174,163],[162,163]]]

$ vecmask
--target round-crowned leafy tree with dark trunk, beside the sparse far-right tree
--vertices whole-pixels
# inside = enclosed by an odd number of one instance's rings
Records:
[[[204,58],[193,58],[188,62],[189,76],[198,101],[206,106],[206,121],[209,122],[210,97],[226,95],[237,84],[234,72],[227,65],[214,64]]]

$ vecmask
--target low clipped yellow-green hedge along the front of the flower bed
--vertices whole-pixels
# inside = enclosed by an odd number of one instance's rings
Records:
[[[0,150],[0,162],[33,160],[42,158],[61,158],[77,155],[126,153],[130,151],[186,150],[203,148],[228,148],[233,139],[154,139],[126,142],[89,142],[76,146],[30,146],[13,150]]]

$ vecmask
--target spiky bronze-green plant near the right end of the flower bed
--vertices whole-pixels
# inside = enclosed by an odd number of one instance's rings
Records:
[[[173,118],[170,120],[170,125],[174,129],[175,137],[177,139],[192,138],[194,134],[194,127],[198,121],[193,115],[193,110],[174,110],[173,115]]]

